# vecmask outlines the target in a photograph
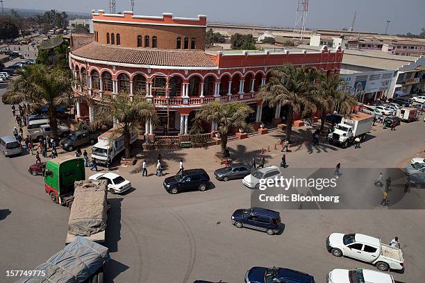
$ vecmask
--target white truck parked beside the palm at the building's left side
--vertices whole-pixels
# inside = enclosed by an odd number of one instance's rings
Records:
[[[131,133],[130,144],[133,144],[137,136],[135,132]],[[96,160],[97,164],[105,165],[108,157],[113,162],[122,151],[124,151],[124,135],[122,128],[117,126],[97,137],[97,144],[92,147],[92,160]]]

